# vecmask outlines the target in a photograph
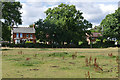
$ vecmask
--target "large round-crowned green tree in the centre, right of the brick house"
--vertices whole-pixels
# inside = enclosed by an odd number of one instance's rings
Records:
[[[58,7],[47,9],[45,13],[44,26],[38,26],[44,28],[44,32],[49,34],[49,40],[58,43],[72,41],[77,44],[85,40],[87,29],[92,27],[92,24],[84,19],[83,13],[76,10],[74,5],[62,3]]]

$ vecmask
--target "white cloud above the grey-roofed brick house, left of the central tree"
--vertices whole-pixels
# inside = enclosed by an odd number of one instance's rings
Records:
[[[60,3],[59,2],[28,2],[22,3],[22,25],[23,26],[29,26],[30,24],[33,24],[39,19],[45,19],[45,11],[48,8],[57,7]],[[21,25],[20,25],[21,26]]]

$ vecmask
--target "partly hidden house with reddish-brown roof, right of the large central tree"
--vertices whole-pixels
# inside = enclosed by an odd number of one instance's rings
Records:
[[[88,41],[88,44],[90,44],[90,42],[94,43],[96,42],[96,39],[100,36],[102,36],[102,34],[97,32],[93,32],[91,35],[86,33],[86,40]],[[90,37],[91,37],[91,40],[90,40]]]

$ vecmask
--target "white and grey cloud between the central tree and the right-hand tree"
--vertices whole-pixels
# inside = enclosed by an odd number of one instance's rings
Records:
[[[76,9],[83,12],[84,18],[91,22],[93,27],[100,24],[107,14],[114,13],[117,9],[117,5],[111,3],[74,2],[69,4],[76,5]]]

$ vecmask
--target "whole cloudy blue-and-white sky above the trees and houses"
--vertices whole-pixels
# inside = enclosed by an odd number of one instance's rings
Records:
[[[28,27],[39,19],[45,19],[48,8],[57,7],[59,4],[75,5],[77,10],[83,12],[84,18],[94,26],[98,26],[107,14],[118,9],[119,0],[17,0],[22,4],[22,25]]]

